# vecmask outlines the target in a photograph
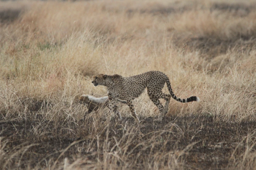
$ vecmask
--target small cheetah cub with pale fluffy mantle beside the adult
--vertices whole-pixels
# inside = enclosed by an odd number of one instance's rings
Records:
[[[80,104],[86,104],[86,107],[88,109],[87,113],[83,117],[83,120],[85,119],[86,115],[91,113],[92,111],[94,110],[96,111],[99,108],[105,108],[109,106],[108,96],[97,98],[91,95],[83,94],[79,97],[78,100]],[[121,100],[118,100],[118,101],[126,104],[126,101],[121,101]],[[116,110],[117,110],[117,106],[114,107],[114,112],[116,112]],[[120,115],[120,113],[117,113],[117,112],[116,114]]]

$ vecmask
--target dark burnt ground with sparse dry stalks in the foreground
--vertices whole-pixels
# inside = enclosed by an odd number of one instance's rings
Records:
[[[95,128],[95,124],[99,127]],[[162,122],[149,117],[137,126],[133,118],[125,118],[122,122],[111,120],[107,125],[104,119],[56,122],[43,120],[39,116],[34,120],[1,120],[0,127],[1,137],[8,140],[2,163],[17,153],[11,159],[14,164],[10,168],[17,168],[17,164],[22,169],[43,168],[48,166],[47,161],[54,163],[65,157],[70,162],[77,158],[95,161],[97,150],[103,150],[104,141],[108,138],[111,146],[114,146],[115,140],[120,141],[120,146],[126,146],[129,141],[127,150],[130,160],[138,153],[141,155],[137,158],[137,164],[129,167],[130,169],[138,166],[146,169],[144,163],[150,162],[154,154],[177,154],[181,150],[186,153],[177,159],[183,160],[184,169],[224,169],[229,165],[231,154],[239,157],[244,152],[243,139],[255,130],[256,122],[216,122],[208,116],[170,116],[165,117]],[[72,143],[76,140],[75,144]],[[67,147],[70,148],[58,158]],[[79,147],[82,149],[78,150]],[[23,153],[25,149],[27,150]],[[103,159],[101,153],[100,159]],[[165,160],[164,164],[166,163]],[[117,164],[122,166],[121,162]]]

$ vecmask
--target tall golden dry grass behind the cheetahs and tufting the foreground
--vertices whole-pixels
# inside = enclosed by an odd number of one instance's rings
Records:
[[[1,18],[2,121],[37,120],[40,115],[44,121],[53,123],[54,128],[64,128],[63,122],[67,123],[65,126],[73,126],[72,122],[76,124],[85,112],[85,107],[76,103],[78,95],[106,95],[104,87],[92,86],[94,74],[133,76],[149,70],[168,75],[180,98],[196,95],[201,99],[200,103],[171,102],[167,117],[193,115],[212,117],[216,122],[255,121],[254,1],[10,1],[1,2],[1,6],[2,11],[15,10],[17,14]],[[158,116],[157,107],[146,93],[136,100],[135,108],[142,120]],[[121,106],[120,112],[130,117],[127,106]],[[118,151],[113,152],[116,148],[108,146],[108,139],[100,142],[103,139],[98,135],[109,127],[108,122],[100,125],[100,120],[96,120],[105,116],[108,116],[106,109],[98,115],[89,115],[94,123],[88,127],[94,131],[90,136],[97,141],[96,148],[102,149],[99,152],[103,158],[97,155],[97,161],[91,163],[77,159],[69,165],[66,161],[65,166],[78,168],[86,162],[87,168],[106,169],[111,162],[110,169],[118,169],[117,162],[123,162],[123,169],[136,168],[132,166],[137,163],[136,158],[127,153],[129,144],[147,150],[152,143],[161,142],[160,132],[147,141],[132,142],[137,137],[134,134],[139,133],[133,125],[116,141]],[[49,122],[44,121],[33,132],[27,132],[27,138],[32,137],[34,142],[58,138],[57,130],[55,135],[47,135],[48,130],[43,127]],[[78,130],[65,135],[83,136],[83,133]],[[252,139],[248,136],[246,140]],[[163,148],[170,141],[165,142]],[[0,141],[1,155],[7,154],[6,144],[7,141]],[[152,161],[141,166],[186,168],[182,156],[193,145],[168,153],[149,152],[147,158]],[[235,162],[231,168],[245,167],[246,161],[252,163],[251,167],[255,165],[247,152],[254,147],[254,140],[247,146],[241,155],[243,161],[237,162],[235,156],[230,158]],[[12,168],[9,163],[5,161],[2,167]],[[62,164],[52,160],[45,167],[58,169]]]

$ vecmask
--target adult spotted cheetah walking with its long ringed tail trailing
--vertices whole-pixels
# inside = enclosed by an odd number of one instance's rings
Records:
[[[109,112],[114,112],[116,99],[125,100],[130,108],[132,117],[139,121],[134,109],[133,100],[139,97],[147,88],[147,94],[150,100],[158,107],[160,113],[157,121],[161,121],[163,116],[168,112],[168,106],[171,97],[178,102],[187,103],[192,101],[199,102],[199,97],[191,96],[186,99],[178,98],[172,91],[169,78],[160,71],[148,71],[143,74],[139,74],[131,77],[122,77],[120,75],[103,75],[97,74],[93,77],[92,81],[94,86],[103,85],[107,87],[109,98]],[[162,92],[164,84],[167,84],[167,88],[170,94]],[[159,99],[164,99],[165,105],[162,106]],[[119,115],[118,115],[119,116]],[[122,119],[121,116],[120,120]]]

